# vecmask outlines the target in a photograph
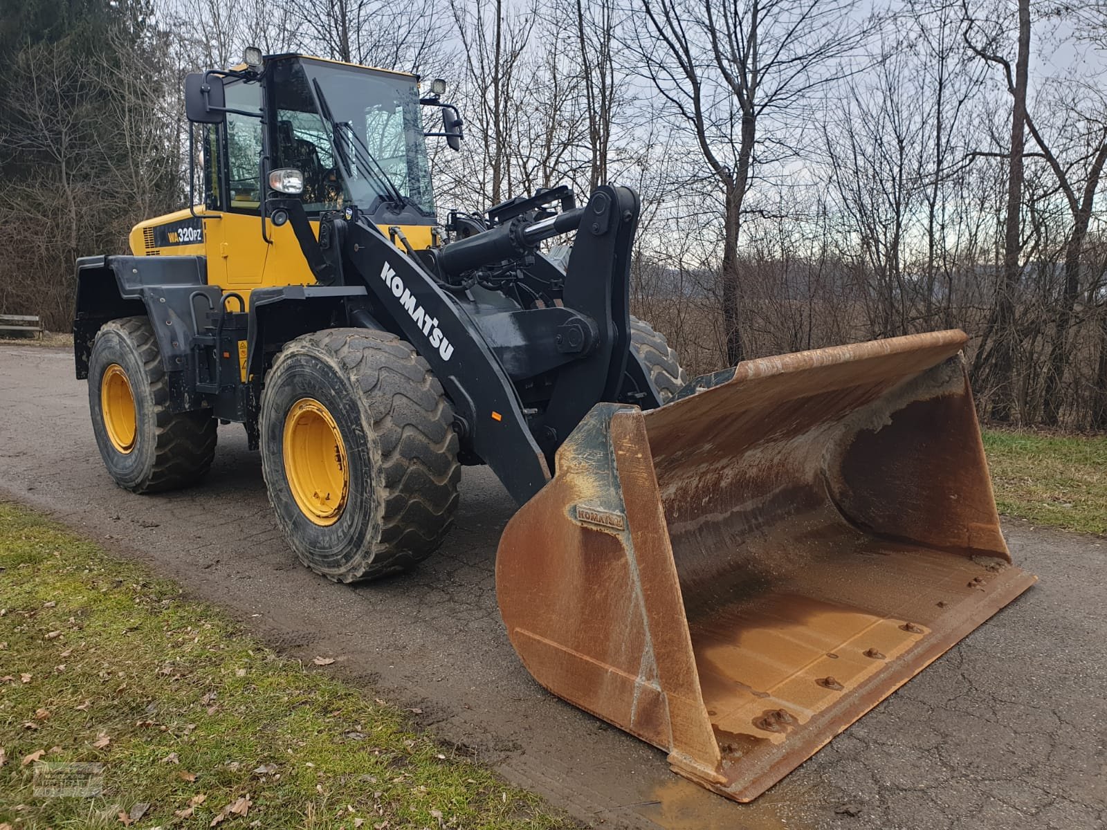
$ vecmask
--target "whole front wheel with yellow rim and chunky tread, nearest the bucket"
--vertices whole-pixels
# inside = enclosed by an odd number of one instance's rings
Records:
[[[269,501],[300,561],[354,582],[434,552],[457,508],[453,417],[430,366],[393,334],[328,329],[289,342],[266,375],[259,426]],[[297,437],[310,434],[323,439]],[[328,453],[312,454],[321,444]],[[333,464],[313,460],[323,455]],[[320,496],[320,481],[334,491]]]

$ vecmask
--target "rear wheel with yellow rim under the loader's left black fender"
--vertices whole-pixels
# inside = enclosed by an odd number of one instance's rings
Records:
[[[162,492],[203,478],[215,458],[209,412],[169,411],[169,384],[145,317],[105,323],[89,356],[89,409],[96,446],[115,484]]]

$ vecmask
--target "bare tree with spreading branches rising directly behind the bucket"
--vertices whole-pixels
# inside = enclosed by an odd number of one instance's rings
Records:
[[[726,357],[739,331],[738,235],[759,167],[795,155],[811,100],[851,71],[869,30],[853,0],[641,0],[644,72],[691,133],[722,201]],[[758,127],[767,127],[758,133]]]

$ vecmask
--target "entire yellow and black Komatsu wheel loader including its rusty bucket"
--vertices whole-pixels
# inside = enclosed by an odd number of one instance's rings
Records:
[[[461,466],[488,465],[519,505],[496,589],[526,668],[748,801],[1035,580],[1000,531],[965,335],[690,382],[630,313],[633,190],[438,224],[444,92],[252,49],[187,77],[201,191],[76,266],[107,471],[193,485],[241,423],[288,544],[352,582],[432,554]]]

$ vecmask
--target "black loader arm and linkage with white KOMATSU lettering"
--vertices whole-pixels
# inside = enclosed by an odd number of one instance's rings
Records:
[[[366,319],[426,360],[453,402],[462,446],[519,504],[546,485],[557,448],[596,404],[660,403],[630,349],[637,194],[602,186],[583,207],[532,209],[548,198],[520,203],[521,214],[493,209],[498,224],[418,255],[356,208],[324,219],[319,243],[297,235],[320,282],[364,286]],[[572,230],[562,271],[538,246]]]

